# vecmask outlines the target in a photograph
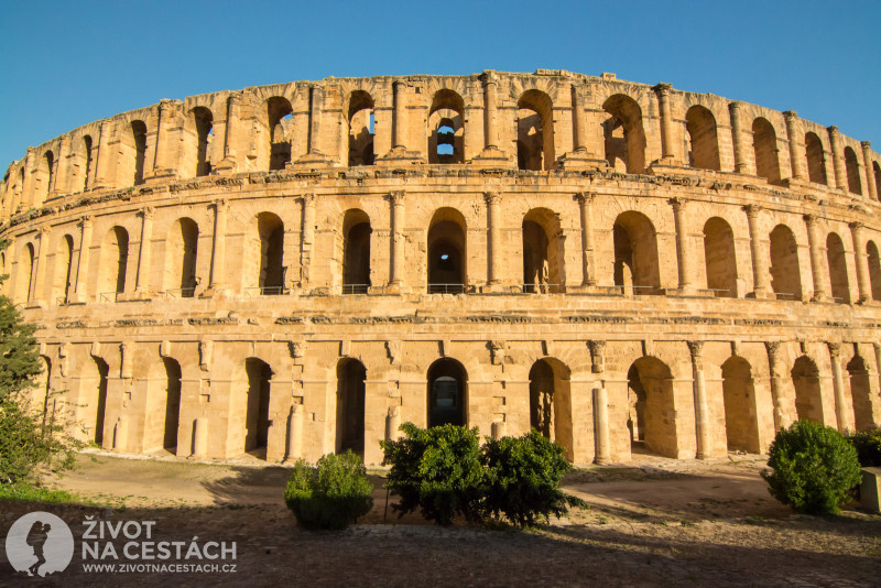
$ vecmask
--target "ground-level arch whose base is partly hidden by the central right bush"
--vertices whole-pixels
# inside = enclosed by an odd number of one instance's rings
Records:
[[[557,359],[540,359],[530,369],[530,426],[563,446],[572,460],[569,369]]]

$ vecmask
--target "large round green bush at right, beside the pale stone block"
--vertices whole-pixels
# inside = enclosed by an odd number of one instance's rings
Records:
[[[781,429],[762,471],[771,496],[797,512],[837,513],[860,481],[857,450],[831,427],[797,421]]]

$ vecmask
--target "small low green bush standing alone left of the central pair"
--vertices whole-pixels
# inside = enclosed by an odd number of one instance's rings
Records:
[[[305,529],[346,529],[370,512],[372,492],[361,458],[346,451],[322,457],[315,468],[297,461],[284,501]]]

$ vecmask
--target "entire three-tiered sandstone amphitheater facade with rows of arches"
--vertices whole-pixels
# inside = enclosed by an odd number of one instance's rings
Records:
[[[881,422],[880,163],[613,74],[219,91],[29,148],[2,287],[37,400],[108,449],[378,464],[410,421],[576,464],[760,453]]]

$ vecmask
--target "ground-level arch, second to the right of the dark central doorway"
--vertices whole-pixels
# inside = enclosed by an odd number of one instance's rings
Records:
[[[642,357],[630,367],[627,378],[631,450],[678,457],[670,368],[660,359]]]

